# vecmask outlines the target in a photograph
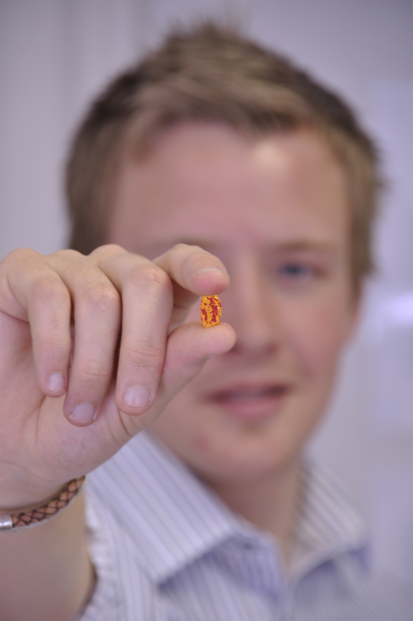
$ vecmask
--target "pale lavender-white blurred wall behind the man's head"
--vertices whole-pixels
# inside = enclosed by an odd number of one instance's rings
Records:
[[[412,579],[412,2],[2,0],[1,255],[65,247],[62,168],[92,97],[171,24],[229,20],[353,104],[383,151],[378,273],[310,451],[368,521],[374,563]]]

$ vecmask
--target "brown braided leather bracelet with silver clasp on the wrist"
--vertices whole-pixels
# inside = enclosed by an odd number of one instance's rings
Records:
[[[63,486],[57,496],[41,507],[30,511],[0,515],[0,531],[23,530],[37,526],[37,524],[41,524],[44,520],[50,520],[62,509],[65,509],[72,502],[73,498],[78,495],[83,481],[85,481],[85,476],[72,479],[72,481]]]

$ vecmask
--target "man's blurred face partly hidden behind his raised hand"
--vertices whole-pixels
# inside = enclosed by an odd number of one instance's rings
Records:
[[[248,140],[184,124],[124,165],[110,241],[149,258],[197,244],[231,277],[220,297],[233,350],[151,427],[207,481],[253,480],[299,458],[355,320],[348,220],[343,171],[310,131]]]

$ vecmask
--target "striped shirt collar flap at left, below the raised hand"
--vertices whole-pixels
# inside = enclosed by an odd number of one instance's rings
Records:
[[[164,445],[139,433],[89,475],[142,569],[164,582],[239,532],[236,516]],[[108,493],[109,488],[109,493]]]

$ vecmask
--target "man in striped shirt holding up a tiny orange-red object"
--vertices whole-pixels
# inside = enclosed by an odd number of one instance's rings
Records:
[[[371,268],[348,108],[206,25],[111,84],[67,179],[81,254],[2,269],[2,619],[407,618],[302,459]]]

